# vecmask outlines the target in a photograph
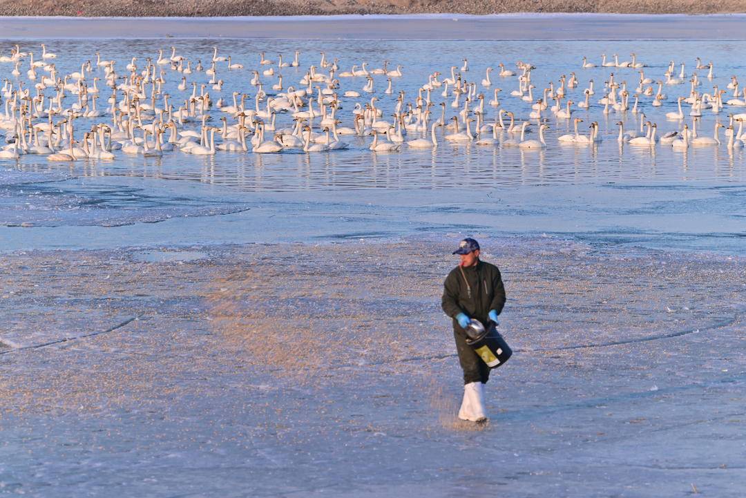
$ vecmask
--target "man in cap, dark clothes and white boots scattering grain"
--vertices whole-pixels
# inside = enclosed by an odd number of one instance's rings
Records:
[[[500,270],[495,265],[480,261],[479,242],[463,239],[454,254],[461,256],[460,264],[445,279],[441,306],[453,318],[456,350],[464,373],[464,397],[459,410],[461,420],[483,422],[483,385],[489,378],[489,367],[466,344],[466,327],[476,318],[485,327],[489,321],[498,324],[498,315],[505,306],[505,288]]]

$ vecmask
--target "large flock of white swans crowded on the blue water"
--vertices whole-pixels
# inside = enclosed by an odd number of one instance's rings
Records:
[[[497,71],[489,67],[480,78],[472,76],[464,58],[447,75],[424,75],[416,95],[407,96],[393,88],[403,75],[402,65],[384,61],[373,68],[363,62],[343,70],[324,52],[307,67],[301,66],[300,51],[292,60],[281,54],[270,60],[262,52],[257,69],[219,54],[217,47],[205,63],[171,47],[170,54],[161,49],[156,57],[131,57],[124,67],[96,52],[95,62],[82,61],[75,66],[79,70],[65,73],[58,69],[61,56],[45,44],[39,48],[22,51],[15,45],[0,56],[10,69],[0,89],[0,130],[6,142],[2,159],[17,160],[23,154],[77,161],[113,160],[118,154],[329,152],[350,147],[344,136],[354,136],[355,143],[374,152],[434,149],[443,142],[543,149],[551,122],[574,128],[557,136],[558,144],[592,145],[602,140],[598,122],[581,125],[592,108],[605,116],[636,116],[639,126],[632,129],[625,129],[624,121],[617,123],[616,139],[632,147],[736,149],[746,140],[746,112],[738,112],[746,111],[746,88],[733,76],[725,88],[702,91],[715,77],[713,64],[699,58],[694,71],[671,61],[662,75],[651,78],[636,54],[627,61],[603,54],[599,65],[583,57],[575,71],[557,75],[540,90],[530,63],[518,61],[515,70],[500,63]],[[596,67],[607,68],[606,81],[594,86],[586,78],[581,85],[583,71]],[[228,72],[239,87],[225,86]],[[289,75],[295,81],[286,86]],[[503,97],[492,78],[513,90]],[[377,84],[383,79],[385,85]],[[677,95],[667,95],[673,92]],[[658,109],[674,101],[677,110],[664,114]],[[525,112],[515,116],[504,109],[506,102],[521,104]],[[392,113],[385,114],[384,107],[392,107]],[[703,115],[721,111],[729,115],[727,124],[718,119],[711,135],[703,133]],[[653,116],[673,129],[659,131]],[[532,128],[538,131],[536,138],[527,136]],[[724,140],[720,128],[725,128]]]

